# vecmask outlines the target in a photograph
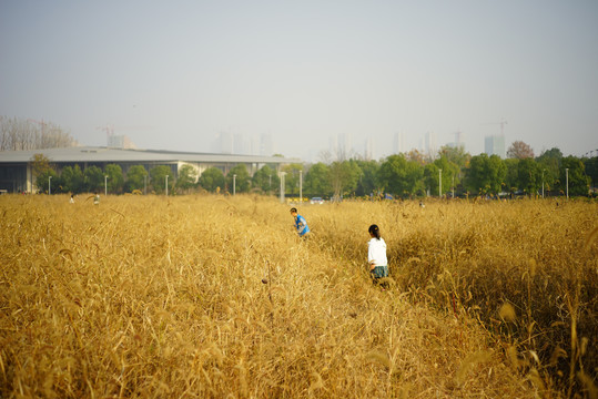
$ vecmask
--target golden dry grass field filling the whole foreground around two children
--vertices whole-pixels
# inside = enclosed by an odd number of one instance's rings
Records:
[[[597,397],[597,203],[298,208],[1,196],[0,397]]]

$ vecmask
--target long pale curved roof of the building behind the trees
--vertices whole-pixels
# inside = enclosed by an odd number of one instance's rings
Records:
[[[51,162],[196,162],[196,163],[301,163],[298,158],[260,155],[207,154],[162,150],[123,150],[112,147],[74,146],[28,151],[2,151],[0,163],[28,163],[33,155],[43,154]]]

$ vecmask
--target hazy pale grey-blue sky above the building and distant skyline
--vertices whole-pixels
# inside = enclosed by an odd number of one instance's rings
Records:
[[[536,154],[598,150],[598,1],[0,0],[0,115],[84,145],[210,152],[271,134],[317,161],[347,134],[376,158],[463,133]]]

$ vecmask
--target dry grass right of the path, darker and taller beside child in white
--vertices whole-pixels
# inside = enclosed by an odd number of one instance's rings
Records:
[[[355,248],[352,256],[363,237],[345,237],[348,227],[338,221],[362,229],[377,223],[388,243],[391,275],[412,301],[478,318],[497,345],[515,345],[525,358],[520,371],[544,389],[569,397],[596,391],[588,381],[596,381],[598,368],[598,204],[426,205],[347,203],[343,217],[334,208],[314,208],[312,218],[321,223],[314,228],[334,219],[337,228],[326,237]],[[513,309],[508,318],[499,317],[505,304]]]

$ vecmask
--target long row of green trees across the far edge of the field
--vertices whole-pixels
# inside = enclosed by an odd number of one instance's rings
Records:
[[[259,193],[280,194],[281,178],[287,196],[379,196],[396,198],[438,196],[497,196],[497,195],[588,195],[598,182],[598,157],[564,156],[551,149],[534,157],[529,153],[506,160],[497,155],[472,156],[463,147],[445,146],[434,160],[425,158],[416,150],[394,154],[381,161],[349,158],[334,162],[284,165],[278,173],[273,165],[264,165],[250,175],[239,164],[224,174],[217,167],[205,170],[197,177],[196,170],[183,165],[178,176],[170,166],[145,170],[142,165],[129,168],[126,175],[116,164],[104,170],[79,165],[67,166],[60,175],[49,160],[36,155],[33,173],[37,185],[52,193],[102,192],[121,194],[131,192],[191,193]],[[168,177],[166,177],[168,176]],[[51,178],[50,178],[51,177]],[[440,192],[442,191],[442,192]]]

